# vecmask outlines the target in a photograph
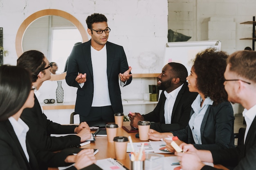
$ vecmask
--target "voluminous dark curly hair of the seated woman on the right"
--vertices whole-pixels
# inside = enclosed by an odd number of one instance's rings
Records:
[[[227,58],[226,52],[217,51],[216,48],[207,48],[196,54],[194,60],[197,88],[205,98],[211,98],[214,105],[227,101],[227,92],[223,85]]]

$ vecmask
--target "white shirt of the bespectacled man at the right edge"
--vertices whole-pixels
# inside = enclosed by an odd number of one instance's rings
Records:
[[[243,111],[243,117],[245,117],[245,122],[246,122],[246,129],[245,129],[245,138],[244,138],[244,143],[245,139],[247,137],[247,133],[249,131],[249,128],[252,125],[252,122],[256,116],[256,105],[254,105],[251,109],[247,110],[244,109]]]

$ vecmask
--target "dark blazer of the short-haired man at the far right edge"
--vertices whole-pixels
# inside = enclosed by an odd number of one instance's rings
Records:
[[[225,150],[211,150],[214,164],[235,167],[234,170],[254,170],[256,167],[256,117],[249,128],[245,144]],[[214,169],[204,166],[202,169]]]

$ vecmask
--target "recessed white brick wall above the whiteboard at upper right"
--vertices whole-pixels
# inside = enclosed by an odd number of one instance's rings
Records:
[[[252,47],[252,41],[239,39],[252,37],[252,26],[240,23],[252,21],[252,17],[256,15],[255,7],[255,0],[168,0],[168,29],[191,36],[189,41],[208,40],[208,35],[229,36],[235,41],[223,39],[222,50],[229,53],[243,50],[246,46]],[[193,15],[188,17],[186,13]],[[213,30],[208,33],[206,29],[209,18],[219,21],[230,18],[232,22],[223,21],[220,27],[212,23]],[[188,30],[189,34],[186,33]],[[221,31],[213,33],[214,30]],[[214,37],[209,37],[209,40]]]

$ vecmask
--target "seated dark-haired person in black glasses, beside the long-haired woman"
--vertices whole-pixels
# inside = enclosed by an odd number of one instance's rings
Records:
[[[24,52],[17,60],[17,65],[29,70],[32,74],[33,88],[38,90],[44,81],[51,78],[49,63],[42,52],[30,50]],[[27,138],[29,138],[35,148],[41,150],[57,151],[67,147],[80,146],[81,142],[91,138],[91,132],[86,122],[79,126],[61,125],[47,119],[43,113],[37,98],[34,95],[35,105],[32,108],[24,109],[20,118],[29,126]],[[74,134],[63,137],[50,137],[50,134]]]

